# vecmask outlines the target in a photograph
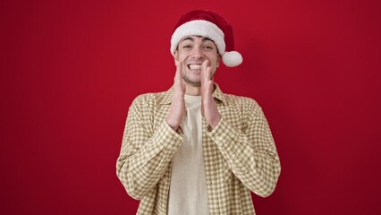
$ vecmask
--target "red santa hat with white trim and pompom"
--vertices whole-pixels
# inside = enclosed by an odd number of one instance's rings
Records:
[[[242,56],[234,51],[232,27],[217,13],[206,10],[195,10],[186,13],[174,28],[171,39],[171,53],[174,55],[179,42],[191,35],[212,39],[222,61],[233,67],[242,63]]]

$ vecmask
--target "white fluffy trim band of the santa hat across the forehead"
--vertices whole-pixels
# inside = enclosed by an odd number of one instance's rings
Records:
[[[219,54],[221,56],[224,55],[224,32],[220,30],[215,23],[207,22],[204,20],[185,22],[176,30],[174,30],[174,34],[172,35],[171,39],[172,55],[174,55],[174,51],[176,50],[180,40],[192,35],[212,39],[218,48]]]

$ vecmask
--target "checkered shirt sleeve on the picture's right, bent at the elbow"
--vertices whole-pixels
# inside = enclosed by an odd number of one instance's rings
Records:
[[[241,183],[253,193],[266,197],[275,190],[281,171],[280,160],[262,109],[254,101],[246,105],[245,129],[231,126],[223,116],[208,135]]]

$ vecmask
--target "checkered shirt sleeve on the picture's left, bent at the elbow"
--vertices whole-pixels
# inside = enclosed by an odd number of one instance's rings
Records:
[[[148,115],[147,108],[140,99],[132,102],[116,162],[116,174],[134,199],[141,199],[157,185],[182,143],[182,136],[165,119],[156,130],[150,131],[153,116]]]

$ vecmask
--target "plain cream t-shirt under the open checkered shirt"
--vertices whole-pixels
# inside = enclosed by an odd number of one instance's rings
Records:
[[[182,145],[173,159],[168,215],[207,215],[201,97],[185,95],[185,107]]]

